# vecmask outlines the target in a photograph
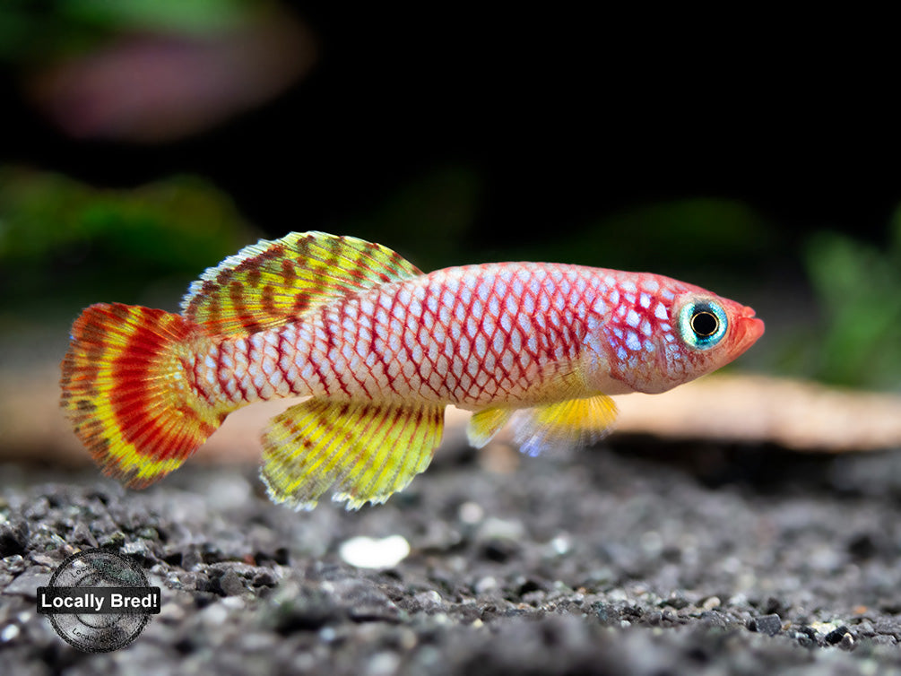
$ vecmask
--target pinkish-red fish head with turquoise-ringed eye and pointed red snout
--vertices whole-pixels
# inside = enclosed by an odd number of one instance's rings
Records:
[[[660,288],[651,302],[614,313],[622,322],[605,328],[610,374],[632,391],[656,394],[699,378],[739,357],[763,334],[751,307],[655,278]]]

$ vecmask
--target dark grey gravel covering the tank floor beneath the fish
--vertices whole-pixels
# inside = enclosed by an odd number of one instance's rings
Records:
[[[250,470],[125,491],[9,466],[4,673],[760,674],[901,668],[901,461],[651,446],[436,459],[383,507],[271,505]],[[496,466],[496,465],[495,465]],[[387,570],[340,545],[402,535]],[[79,653],[35,589],[86,547],[163,588],[144,633]]]

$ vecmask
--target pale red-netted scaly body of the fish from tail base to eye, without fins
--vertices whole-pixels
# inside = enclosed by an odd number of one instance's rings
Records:
[[[313,395],[471,408],[578,395],[559,390],[558,376],[570,372],[585,376],[583,396],[662,391],[706,358],[688,354],[674,326],[674,298],[699,291],[574,265],[441,269],[224,340],[198,359],[198,385],[209,400],[235,404]]]

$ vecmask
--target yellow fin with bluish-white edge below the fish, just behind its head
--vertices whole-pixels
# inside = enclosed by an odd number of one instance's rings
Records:
[[[514,441],[528,455],[590,446],[615,419],[616,404],[603,394],[523,408],[513,414]]]

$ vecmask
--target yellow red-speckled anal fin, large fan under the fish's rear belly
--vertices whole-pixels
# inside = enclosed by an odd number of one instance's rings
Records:
[[[323,493],[349,509],[385,502],[428,467],[441,443],[443,407],[308,399],[263,434],[269,497],[312,509]]]

